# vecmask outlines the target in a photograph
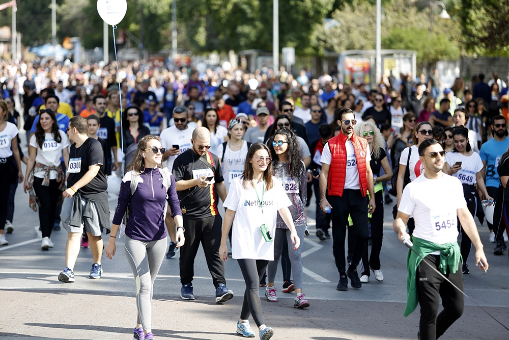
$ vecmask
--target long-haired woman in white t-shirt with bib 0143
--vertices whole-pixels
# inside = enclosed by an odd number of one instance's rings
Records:
[[[53,111],[41,110],[36,132],[29,142],[29,161],[23,189],[30,194],[30,207],[37,211],[39,205],[39,223],[41,226],[41,249],[53,248],[50,240],[53,229],[56,205],[62,199],[64,171],[60,159],[69,163],[69,140],[59,129]]]

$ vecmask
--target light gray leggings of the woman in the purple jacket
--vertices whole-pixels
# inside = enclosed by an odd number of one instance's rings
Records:
[[[136,323],[144,330],[151,330],[152,324],[152,293],[154,280],[161,268],[166,253],[167,238],[157,241],[138,241],[125,236],[124,246],[127,262],[131,266],[136,281]]]

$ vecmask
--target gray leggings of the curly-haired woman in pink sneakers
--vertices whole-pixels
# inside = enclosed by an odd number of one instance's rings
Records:
[[[276,234],[274,235],[274,260],[269,261],[267,266],[267,279],[268,282],[274,282],[277,272],[277,264],[279,263],[279,257],[283,247],[283,238],[288,240],[288,255],[290,257],[290,263],[292,264],[293,272],[293,283],[296,289],[302,289],[302,261],[300,255],[302,253],[302,243],[304,243],[304,232],[306,226],[295,227],[297,230],[297,236],[300,239],[300,247],[297,250],[293,249],[292,240],[290,239],[290,229],[276,228]]]

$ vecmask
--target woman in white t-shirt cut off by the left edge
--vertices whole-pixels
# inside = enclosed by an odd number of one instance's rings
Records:
[[[8,245],[4,228],[7,220],[7,207],[11,185],[23,181],[18,149],[18,128],[7,121],[8,109],[5,101],[0,101],[0,246]],[[17,167],[17,169],[16,169]]]

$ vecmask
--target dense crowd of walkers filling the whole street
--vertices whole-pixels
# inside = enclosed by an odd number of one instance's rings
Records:
[[[417,80],[411,73],[399,80],[391,73],[369,89],[367,84],[342,84],[335,73],[314,78],[306,70],[294,79],[263,69],[200,74],[168,71],[157,62],[120,66],[117,73],[115,64],[1,65],[0,245],[8,244],[4,230],[15,227],[18,182],[30,193],[30,206],[39,210],[41,249],[54,247],[52,230],[68,231],[60,281],[74,282],[80,246],[92,251],[89,277],[100,278],[103,234],[109,235],[108,258],[116,253],[117,238],[124,236],[137,282],[134,339],[154,337],[151,299],[164,257],[180,252],[180,296],[194,300],[200,244],[217,303],[234,296],[224,261],[231,256],[239,263],[246,290],[237,333],[255,336],[251,315],[261,339],[274,333],[263,319],[259,287],[265,287],[268,302],[278,301],[279,261],[282,292],[295,294],[295,308],[309,307],[300,244],[309,235],[306,207],[313,192],[316,237],[326,241],[332,234],[338,291],[348,290],[348,279],[360,289],[371,273],[384,280],[380,253],[389,192],[397,201],[394,230],[402,241],[431,249],[422,257],[432,256],[438,264],[436,251],[456,243],[447,248],[458,247],[461,256],[454,260],[462,259],[450,263],[451,273],[461,265],[455,282],[469,274],[472,244],[475,264],[488,268],[469,217],[484,223],[483,205],[503,202],[495,205],[487,225],[494,253],[506,249],[507,86],[496,73],[491,86],[479,74],[468,87],[457,80],[452,89],[443,88],[436,70]],[[28,157],[20,147],[22,129]],[[442,174],[455,179],[442,180]],[[109,175],[122,177],[112,224]],[[427,180],[463,197],[447,207],[453,213],[441,208],[441,215],[433,217],[440,221],[423,218],[430,215],[423,211],[438,208],[414,195],[429,193]],[[419,211],[419,204],[428,205]],[[435,222],[437,229],[430,229]],[[437,233],[441,229],[447,233]],[[456,242],[460,233],[461,247]],[[417,261],[417,272],[418,266]],[[409,273],[415,275],[415,268],[409,266]],[[422,302],[428,290],[417,285],[414,299]],[[454,296],[454,312],[445,325],[430,328],[437,313],[421,315],[421,338],[443,334],[461,316],[463,300]],[[426,308],[434,306],[430,302]]]

